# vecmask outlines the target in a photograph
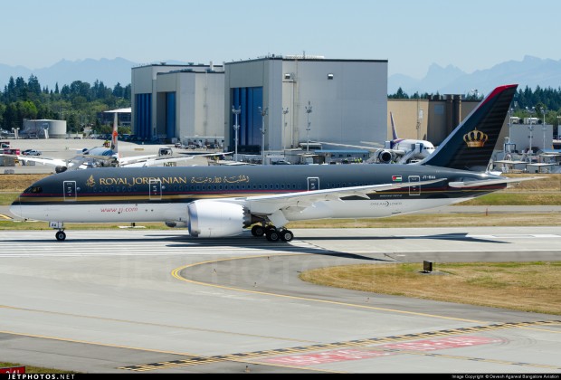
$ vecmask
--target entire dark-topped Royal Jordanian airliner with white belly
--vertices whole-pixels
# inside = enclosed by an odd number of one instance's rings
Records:
[[[517,85],[482,100],[434,153],[413,165],[99,168],[48,176],[10,207],[64,223],[164,222],[191,236],[241,234],[290,242],[290,221],[414,213],[485,195],[528,178],[486,173]],[[529,178],[531,179],[531,178]]]

